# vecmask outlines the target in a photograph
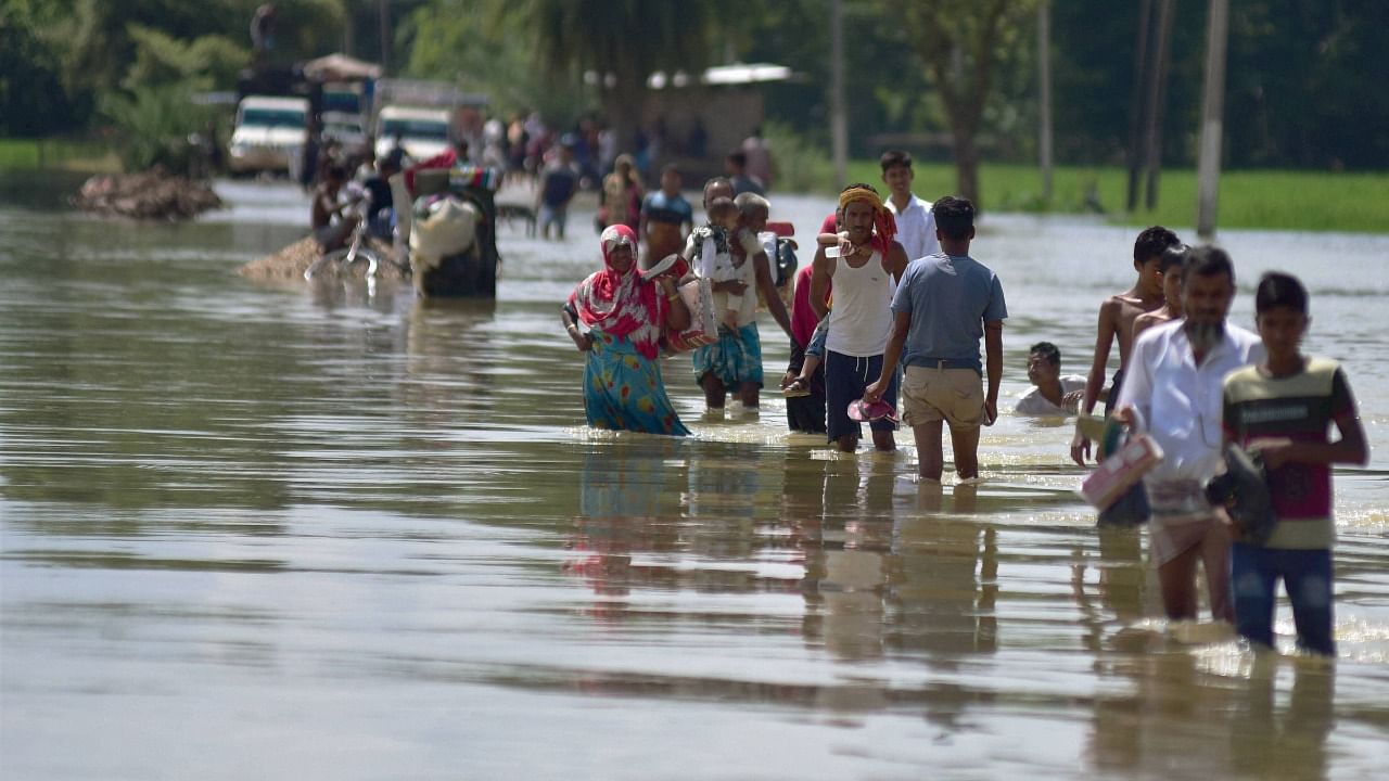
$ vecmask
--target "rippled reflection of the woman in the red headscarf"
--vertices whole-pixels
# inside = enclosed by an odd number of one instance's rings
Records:
[[[660,523],[665,493],[668,447],[632,449],[615,443],[583,454],[579,479],[579,516],[567,548],[572,556],[564,571],[588,582],[597,599],[588,613],[600,620],[626,617],[624,599],[633,585],[675,585],[668,567],[633,566],[633,552],[669,552],[678,545],[676,529]]]

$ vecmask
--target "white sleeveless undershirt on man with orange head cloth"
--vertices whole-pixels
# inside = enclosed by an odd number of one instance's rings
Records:
[[[892,274],[876,252],[858,268],[835,258],[833,309],[825,349],[845,356],[881,356],[892,332]]]

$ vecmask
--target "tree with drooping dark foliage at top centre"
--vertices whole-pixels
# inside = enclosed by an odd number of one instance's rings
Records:
[[[540,64],[554,74],[599,75],[603,108],[618,149],[636,147],[646,79],[658,69],[697,72],[708,61],[729,0],[524,0]]]

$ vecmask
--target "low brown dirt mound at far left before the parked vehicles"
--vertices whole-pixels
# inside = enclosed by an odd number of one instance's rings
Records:
[[[83,211],[136,220],[192,220],[221,208],[222,199],[207,182],[172,176],[154,167],[143,174],[92,176],[72,204]]]

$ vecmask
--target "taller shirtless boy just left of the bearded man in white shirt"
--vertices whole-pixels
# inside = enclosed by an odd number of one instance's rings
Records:
[[[1089,414],[1095,410],[1095,402],[1104,388],[1104,367],[1110,360],[1110,346],[1120,343],[1120,370],[1114,374],[1110,385],[1108,399],[1104,410],[1108,411],[1118,399],[1120,385],[1124,382],[1124,368],[1128,365],[1129,349],[1133,346],[1133,321],[1143,313],[1153,311],[1165,302],[1163,295],[1161,257],[1163,252],[1172,245],[1179,245],[1176,233],[1154,225],[1138,235],[1133,242],[1133,270],[1138,279],[1128,290],[1110,296],[1100,304],[1099,335],[1095,339],[1095,360],[1090,364],[1090,375],[1085,382],[1085,397],[1081,399],[1081,411]],[[1076,432],[1071,439],[1071,459],[1085,466],[1090,457],[1090,441]]]

